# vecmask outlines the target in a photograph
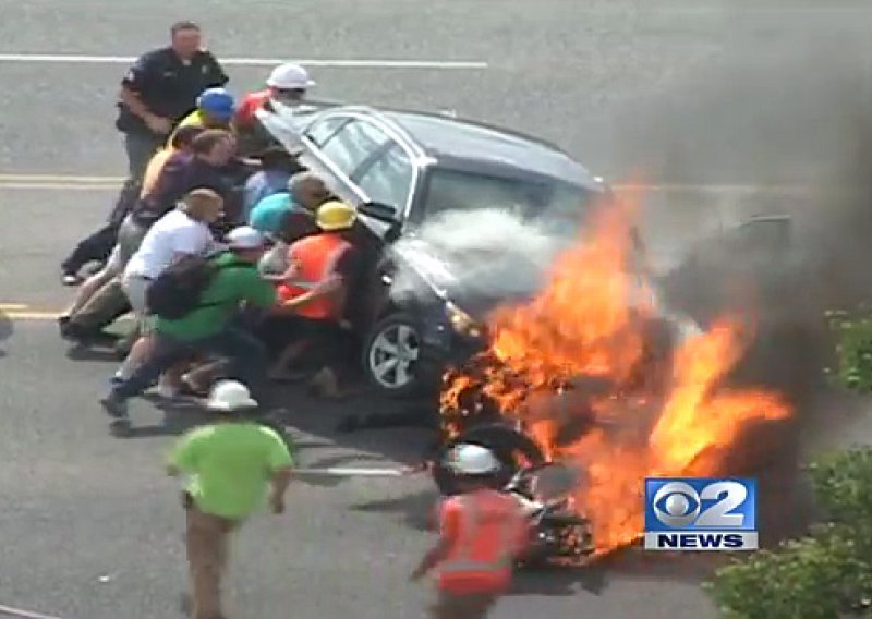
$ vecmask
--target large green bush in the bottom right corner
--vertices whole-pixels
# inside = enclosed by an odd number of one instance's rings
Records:
[[[725,619],[869,616],[872,598],[872,448],[816,459],[809,473],[826,522],[777,551],[722,568],[705,587]]]

